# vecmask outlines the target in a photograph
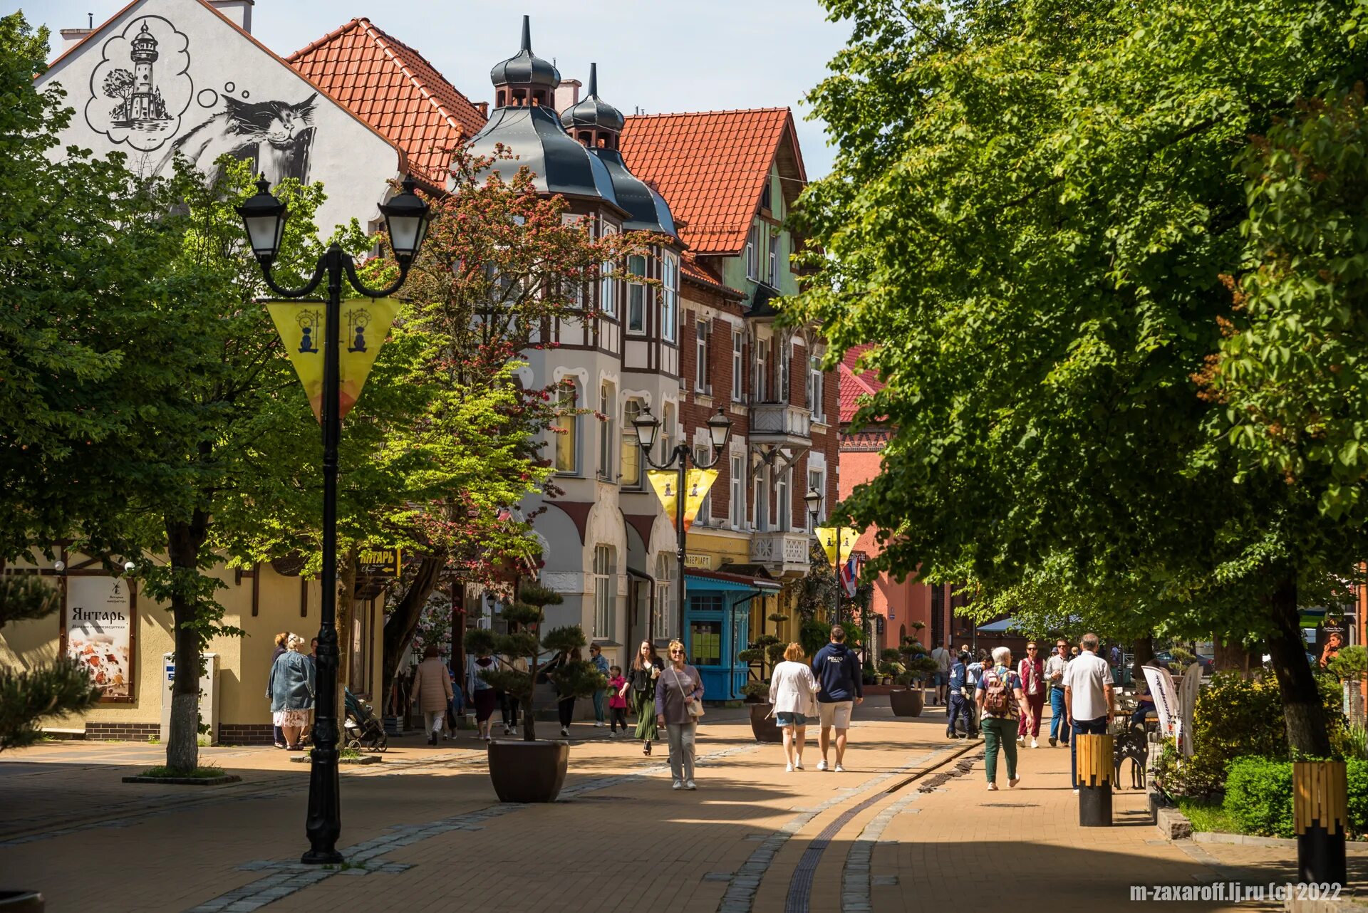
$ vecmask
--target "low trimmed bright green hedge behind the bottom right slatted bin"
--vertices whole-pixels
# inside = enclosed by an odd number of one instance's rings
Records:
[[[1368,835],[1368,761],[1345,763],[1349,780],[1349,832]],[[1226,815],[1241,834],[1294,836],[1291,812],[1291,761],[1268,757],[1237,757],[1226,775]]]

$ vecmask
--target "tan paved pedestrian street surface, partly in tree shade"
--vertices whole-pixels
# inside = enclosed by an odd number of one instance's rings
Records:
[[[900,719],[873,698],[856,711],[845,774],[817,772],[815,746],[808,769],[785,772],[781,748],[757,745],[743,712],[710,711],[694,793],[669,789],[665,757],[577,724],[562,801],[535,806],[497,801],[475,739],[401,739],[384,764],[343,771],[346,864],[331,869],[298,862],[308,771],[283,752],[224,752],[218,763],[245,779],[205,790],[119,783],[145,752],[37,746],[0,757],[0,887],[38,888],[48,910],[81,913],[984,902],[1059,913],[1129,903],[1130,884],[1282,880],[1272,876],[1290,869],[1279,847],[1160,839],[1142,793],[1116,794],[1115,827],[1078,827],[1063,749],[1023,749],[1022,785],[989,793],[981,745],[947,742],[944,724],[940,708]],[[1368,879],[1361,868],[1350,860]]]

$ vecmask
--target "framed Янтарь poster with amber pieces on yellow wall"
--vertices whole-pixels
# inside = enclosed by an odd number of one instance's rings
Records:
[[[67,656],[90,674],[101,698],[133,697],[133,597],[119,577],[67,577]]]

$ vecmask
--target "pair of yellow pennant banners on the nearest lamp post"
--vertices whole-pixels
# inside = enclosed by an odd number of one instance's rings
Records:
[[[313,417],[323,421],[323,318],[321,302],[276,301],[267,305],[275,331],[294,365],[304,394],[313,407]],[[338,327],[338,418],[346,418],[361,398],[365,379],[371,376],[375,357],[384,344],[390,324],[399,308],[389,298],[354,298],[342,302]]]

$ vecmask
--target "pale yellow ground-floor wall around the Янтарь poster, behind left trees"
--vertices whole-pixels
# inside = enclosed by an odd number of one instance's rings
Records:
[[[68,564],[78,563],[78,558]],[[319,631],[321,590],[319,581],[305,581],[308,600],[301,614],[301,578],[282,577],[269,564],[259,570],[257,615],[252,615],[250,574],[237,574],[227,567],[211,571],[224,582],[215,597],[226,610],[223,623],[241,627],[242,637],[215,637],[208,646],[219,655],[219,726],[268,726],[271,723],[269,701],[265,697],[267,679],[271,671],[271,655],[275,652],[275,636],[290,631],[304,638],[312,638]],[[59,582],[60,577],[45,577]],[[167,607],[153,603],[137,589],[134,581],[137,627],[134,630],[133,678],[137,682],[131,703],[100,703],[86,713],[75,718],[48,718],[44,728],[49,731],[81,731],[88,723],[103,737],[146,738],[149,726],[161,723],[161,675],[163,656],[174,651],[171,612]],[[369,604],[358,601],[357,614],[369,615]],[[380,678],[380,646],[383,636],[383,600],[375,607],[375,623],[368,631],[369,651],[364,679],[365,690],[373,693]],[[29,670],[51,663],[60,649],[60,612],[31,622],[15,622],[0,629],[0,666]],[[339,633],[339,638],[345,638]],[[306,648],[305,648],[306,649]],[[131,731],[119,731],[122,726]],[[224,742],[235,741],[239,733],[224,733]]]

